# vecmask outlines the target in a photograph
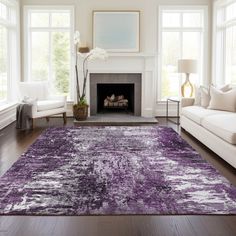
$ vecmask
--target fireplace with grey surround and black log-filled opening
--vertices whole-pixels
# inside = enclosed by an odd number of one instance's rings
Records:
[[[126,112],[141,116],[141,77],[140,73],[90,74],[90,114]]]

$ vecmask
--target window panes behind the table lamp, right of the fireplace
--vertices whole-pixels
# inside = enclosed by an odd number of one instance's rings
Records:
[[[179,59],[196,59],[199,73],[191,81],[201,83],[206,51],[207,7],[161,7],[159,12],[159,92],[158,100],[179,96]]]

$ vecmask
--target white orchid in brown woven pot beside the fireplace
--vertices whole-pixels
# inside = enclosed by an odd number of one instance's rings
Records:
[[[79,45],[80,45],[80,33],[79,31],[75,32],[74,44],[76,48],[76,63],[75,63],[75,75],[76,75],[76,92],[77,92],[77,104],[73,106],[73,114],[76,120],[86,120],[88,118],[88,103],[86,101],[86,84],[88,79],[88,61],[95,59],[103,59],[105,60],[108,55],[104,49],[94,48],[88,53],[80,53]],[[78,73],[78,56],[83,58],[83,88],[82,94],[80,93],[80,83],[79,83],[79,73]]]

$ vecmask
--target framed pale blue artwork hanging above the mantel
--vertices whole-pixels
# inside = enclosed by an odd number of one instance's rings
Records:
[[[93,47],[140,51],[140,11],[93,11]]]

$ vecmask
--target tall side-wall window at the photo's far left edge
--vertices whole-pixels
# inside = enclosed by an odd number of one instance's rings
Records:
[[[14,99],[13,81],[19,77],[17,11],[16,1],[0,0],[0,105]]]

